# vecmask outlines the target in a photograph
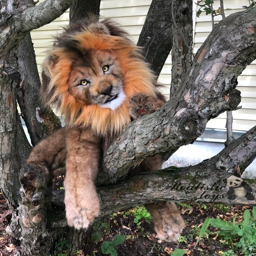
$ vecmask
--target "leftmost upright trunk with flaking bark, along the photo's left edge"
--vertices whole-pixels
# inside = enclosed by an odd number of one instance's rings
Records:
[[[17,106],[15,83],[9,78],[0,79],[0,189],[7,198],[11,210],[18,203],[19,155],[16,144]]]

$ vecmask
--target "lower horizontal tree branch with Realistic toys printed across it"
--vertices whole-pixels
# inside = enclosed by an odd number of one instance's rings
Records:
[[[104,216],[157,200],[256,205],[256,199],[228,199],[225,183],[225,178],[233,175],[237,166],[244,170],[255,157],[256,126],[219,154],[198,165],[143,173],[114,185],[99,186],[101,214]],[[256,181],[250,181],[249,185],[252,194],[256,195]],[[64,209],[63,198],[64,191],[54,191],[52,203]]]

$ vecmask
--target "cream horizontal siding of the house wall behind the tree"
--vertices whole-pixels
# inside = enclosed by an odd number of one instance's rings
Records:
[[[40,0],[43,2],[43,0]],[[137,42],[142,26],[146,19],[146,14],[150,7],[151,0],[102,0],[101,16],[112,17],[119,22],[125,30],[127,30],[134,42]],[[214,2],[214,8],[219,8],[219,1]],[[225,0],[225,15],[243,10],[242,5],[248,5],[247,0]],[[198,8],[198,7],[197,7]],[[196,9],[196,8],[195,8]],[[201,13],[200,18],[195,17],[194,29],[194,53],[199,49],[201,44],[207,38],[212,30],[211,15]],[[221,20],[221,16],[216,16],[215,23]],[[44,52],[49,48],[53,41],[53,35],[62,30],[62,26],[69,24],[69,11],[48,25],[40,27],[31,32],[32,41],[35,47],[36,60],[39,71],[41,63],[44,59]],[[169,55],[163,70],[159,76],[159,81],[166,87],[162,89],[163,93],[168,97],[169,87],[171,83],[172,60]],[[256,125],[256,61],[247,66],[242,75],[238,77],[238,89],[241,91],[242,109],[234,111],[234,130],[246,131]],[[216,119],[208,122],[207,128],[225,129],[225,113]]]

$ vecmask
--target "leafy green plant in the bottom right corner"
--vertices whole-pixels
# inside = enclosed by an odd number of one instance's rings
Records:
[[[222,221],[218,218],[207,218],[203,222],[195,246],[207,231],[208,226],[212,225],[218,229],[219,237],[225,240],[225,243],[229,244],[230,247],[243,252],[245,256],[256,255],[256,207],[252,209],[252,216],[246,209],[243,213],[243,221],[235,223],[235,220],[236,216],[232,222]]]

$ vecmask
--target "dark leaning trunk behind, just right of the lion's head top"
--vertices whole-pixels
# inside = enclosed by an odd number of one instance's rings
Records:
[[[172,49],[172,0],[153,0],[142,28],[138,46],[156,76]]]

